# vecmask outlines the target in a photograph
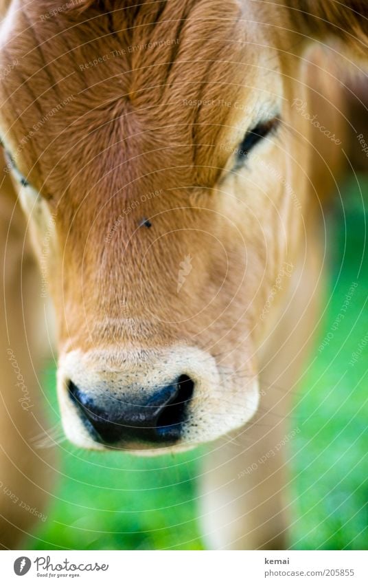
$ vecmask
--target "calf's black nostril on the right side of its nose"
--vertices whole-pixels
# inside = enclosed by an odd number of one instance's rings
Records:
[[[182,375],[176,382],[176,393],[168,401],[156,419],[156,432],[161,438],[169,438],[180,434],[181,425],[185,421],[185,409],[193,397],[194,382],[187,375]]]

